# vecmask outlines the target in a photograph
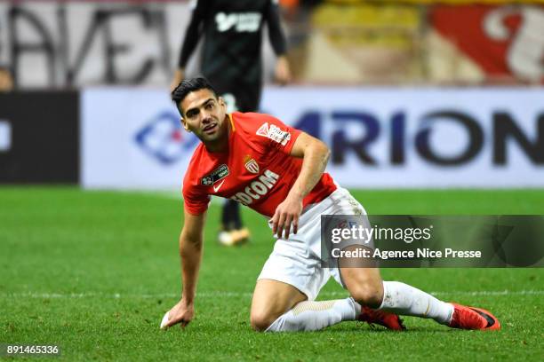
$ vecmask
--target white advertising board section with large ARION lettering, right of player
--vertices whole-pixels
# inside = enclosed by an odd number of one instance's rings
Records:
[[[348,187],[544,187],[544,89],[268,89]]]

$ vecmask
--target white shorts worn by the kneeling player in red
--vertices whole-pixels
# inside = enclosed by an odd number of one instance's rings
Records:
[[[323,201],[302,210],[299,231],[289,239],[277,239],[272,254],[262,267],[258,279],[273,279],[296,287],[308,296],[308,301],[333,277],[342,287],[338,268],[322,268],[321,216],[366,215],[363,206],[348,190],[339,187]],[[269,223],[270,224],[270,223]]]

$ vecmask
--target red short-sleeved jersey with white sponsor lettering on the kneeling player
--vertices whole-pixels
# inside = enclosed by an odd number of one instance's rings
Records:
[[[185,209],[200,215],[215,195],[272,217],[300,174],[302,159],[289,154],[300,130],[268,114],[236,112],[228,117],[228,152],[211,153],[201,143],[193,153],[183,179]],[[334,190],[332,177],[324,173],[303,205],[322,201]]]

